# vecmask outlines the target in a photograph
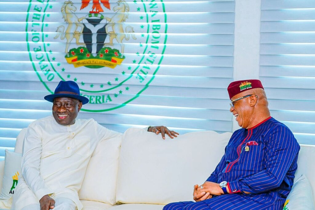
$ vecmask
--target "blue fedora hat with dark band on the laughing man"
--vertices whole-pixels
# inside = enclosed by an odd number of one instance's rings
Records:
[[[89,99],[80,95],[79,86],[73,81],[60,81],[55,89],[54,94],[46,95],[44,99],[48,100],[49,102],[54,102],[54,98],[58,97],[77,99],[81,101],[82,104],[89,102]]]

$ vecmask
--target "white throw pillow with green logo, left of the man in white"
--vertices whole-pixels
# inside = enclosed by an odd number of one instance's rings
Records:
[[[21,157],[20,153],[5,150],[3,184],[0,199],[9,199],[13,196],[14,189],[21,175]]]

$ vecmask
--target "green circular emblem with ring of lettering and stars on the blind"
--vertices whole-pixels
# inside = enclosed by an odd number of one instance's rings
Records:
[[[154,79],[166,40],[162,0],[31,0],[27,11],[27,47],[39,80],[50,93],[60,80],[75,81],[89,99],[84,111],[136,99]]]

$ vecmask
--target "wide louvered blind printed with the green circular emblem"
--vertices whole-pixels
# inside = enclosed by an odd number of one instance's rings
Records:
[[[119,132],[232,130],[235,2],[109,3],[0,0],[0,156],[60,80],[90,100],[78,117]]]

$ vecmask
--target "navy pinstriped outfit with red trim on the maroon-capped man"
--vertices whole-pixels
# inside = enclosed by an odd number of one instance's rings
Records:
[[[227,181],[230,194],[170,203],[163,210],[282,209],[293,185],[299,150],[290,129],[272,117],[255,127],[239,129],[207,179]]]

